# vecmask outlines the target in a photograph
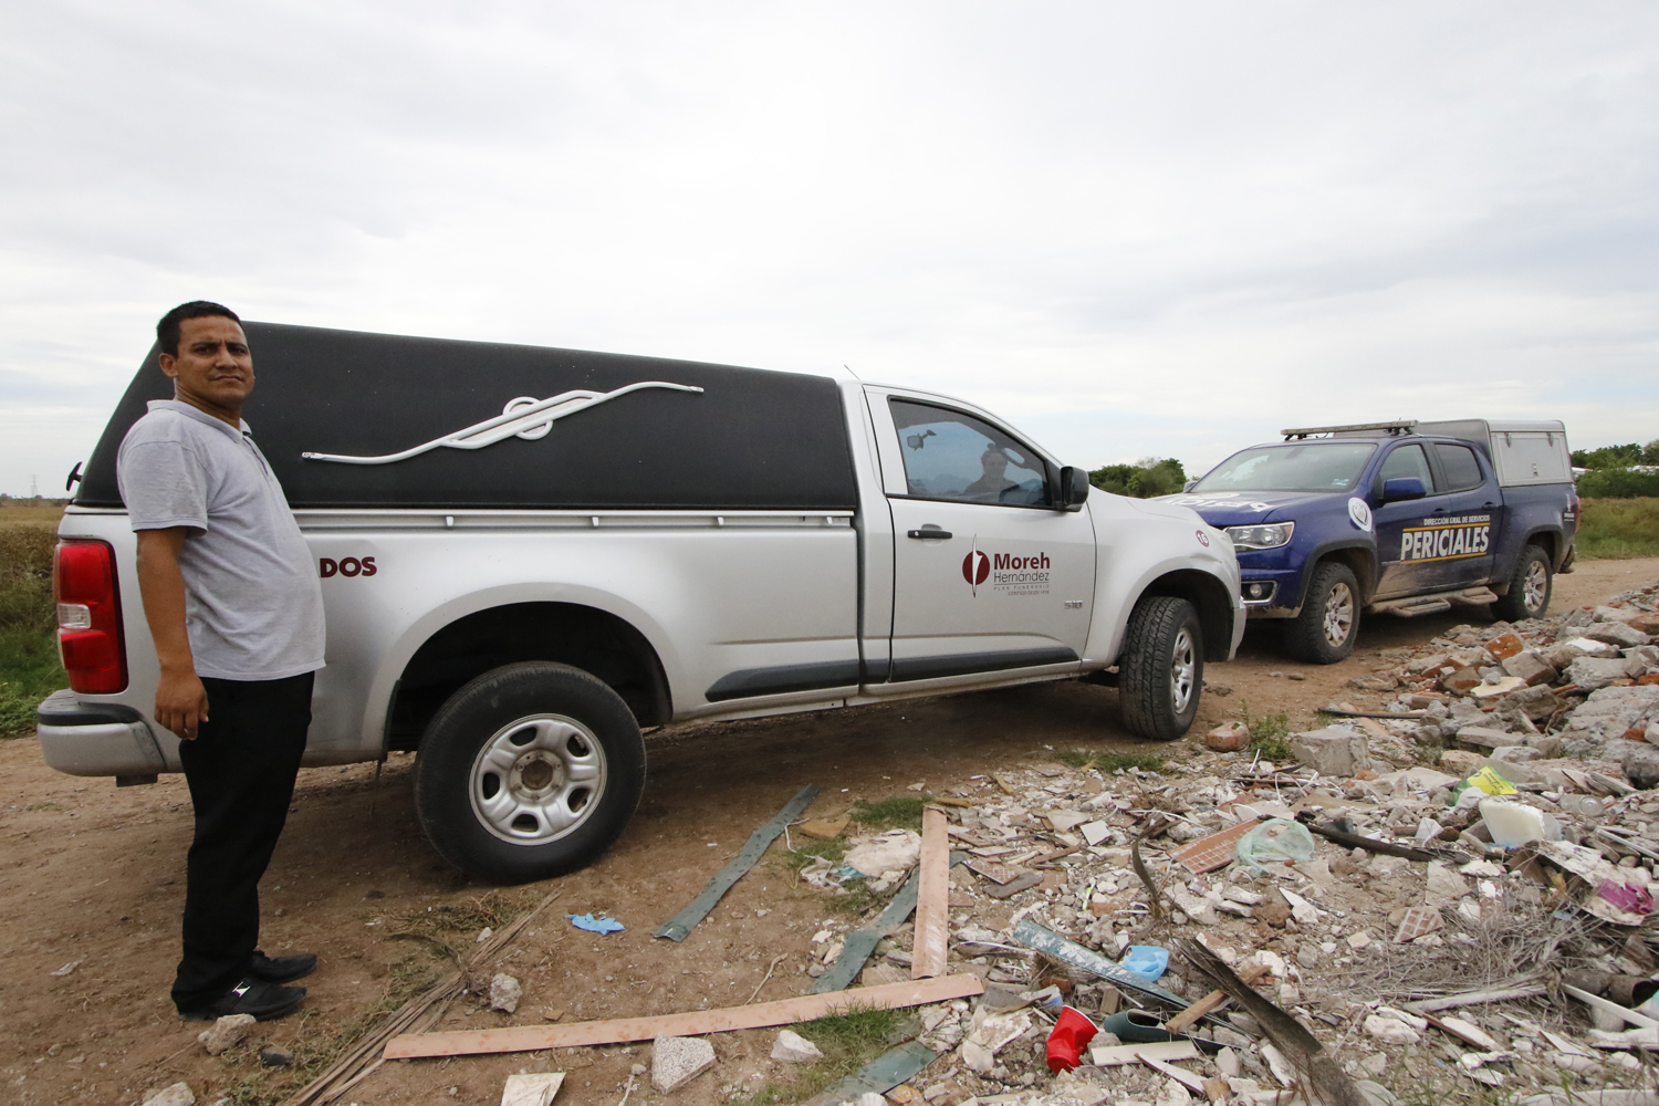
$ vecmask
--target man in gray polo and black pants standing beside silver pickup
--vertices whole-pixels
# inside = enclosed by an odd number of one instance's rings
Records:
[[[280,1018],[305,998],[282,983],[317,957],[259,952],[259,879],[305,751],[324,665],[322,587],[242,421],[254,361],[236,313],[182,303],[156,338],[173,400],[133,423],[116,476],[161,662],[156,721],[181,738],[196,809],[173,1002],[187,1018]]]

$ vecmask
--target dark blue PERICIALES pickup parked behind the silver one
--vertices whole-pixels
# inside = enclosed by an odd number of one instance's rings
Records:
[[[1578,492],[1556,421],[1364,423],[1281,431],[1166,502],[1224,529],[1253,618],[1301,660],[1354,652],[1360,612],[1452,604],[1518,622],[1573,570]]]

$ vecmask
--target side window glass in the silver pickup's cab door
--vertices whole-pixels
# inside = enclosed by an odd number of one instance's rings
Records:
[[[926,403],[889,400],[889,405],[911,496],[1048,506],[1048,476],[1042,458],[990,423]]]

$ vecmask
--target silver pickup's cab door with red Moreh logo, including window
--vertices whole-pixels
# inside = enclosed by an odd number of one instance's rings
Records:
[[[1058,468],[980,411],[868,390],[893,512],[888,686],[1075,665],[1088,638],[1095,529],[1057,511]],[[883,673],[866,690],[879,693]]]

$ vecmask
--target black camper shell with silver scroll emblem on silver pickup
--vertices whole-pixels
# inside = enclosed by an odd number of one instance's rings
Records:
[[[244,416],[294,507],[851,511],[846,416],[828,376],[494,342],[242,323]],[[146,401],[173,398],[151,348],[86,463],[75,504],[121,507],[114,461]],[[438,444],[516,405],[611,393],[493,444]]]

